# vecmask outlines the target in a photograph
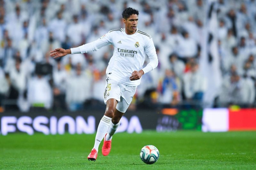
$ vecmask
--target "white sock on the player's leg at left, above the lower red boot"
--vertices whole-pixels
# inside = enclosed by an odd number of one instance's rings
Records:
[[[93,146],[93,148],[96,149],[97,152],[99,150],[100,142],[102,141],[105,134],[108,132],[109,123],[111,122],[111,119],[112,118],[104,115],[100,120],[98,129],[97,129],[97,133],[96,133],[96,137],[95,137],[95,143]]]

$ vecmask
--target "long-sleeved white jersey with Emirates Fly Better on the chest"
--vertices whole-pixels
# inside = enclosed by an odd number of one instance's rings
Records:
[[[96,41],[78,48],[71,48],[71,54],[96,51],[110,44],[115,49],[108,63],[106,73],[109,78],[119,83],[137,86],[140,84],[140,79],[131,81],[132,72],[142,69],[145,74],[156,68],[158,64],[152,37],[138,28],[132,35],[126,34],[124,28],[111,30]],[[145,68],[142,68],[146,54],[150,59],[150,63]]]

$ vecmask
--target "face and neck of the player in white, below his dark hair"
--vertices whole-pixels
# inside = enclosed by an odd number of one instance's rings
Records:
[[[125,24],[125,32],[127,34],[134,34],[136,32],[137,24],[138,24],[138,15],[132,14],[129,18],[123,19]]]

